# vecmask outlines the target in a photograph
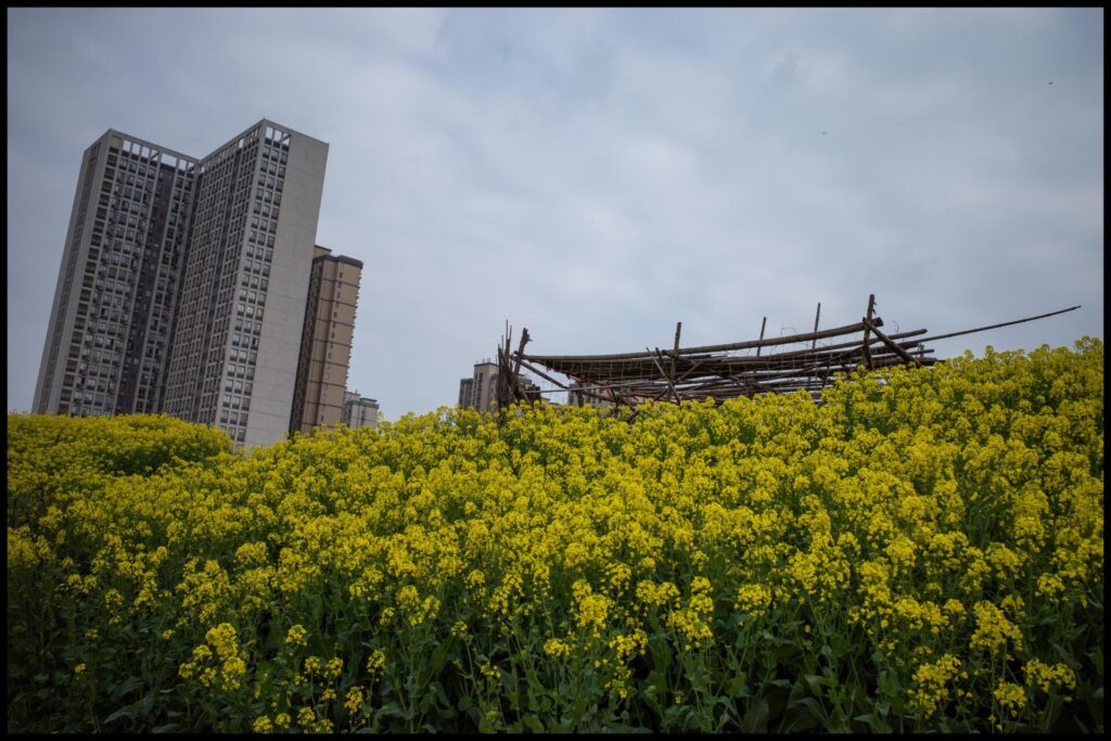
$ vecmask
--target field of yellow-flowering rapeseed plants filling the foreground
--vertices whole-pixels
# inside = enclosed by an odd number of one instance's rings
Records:
[[[1103,346],[249,455],[8,417],[8,731],[1102,732]]]

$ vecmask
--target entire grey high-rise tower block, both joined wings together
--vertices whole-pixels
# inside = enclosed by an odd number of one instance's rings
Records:
[[[34,410],[166,411],[239,445],[282,439],[327,159],[327,143],[266,119],[201,159],[113,130],[98,139]]]

